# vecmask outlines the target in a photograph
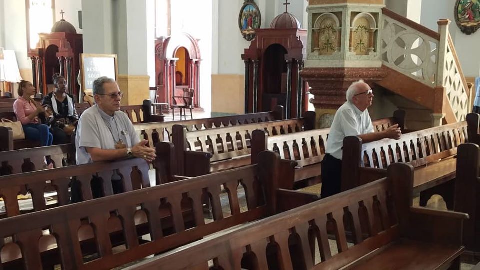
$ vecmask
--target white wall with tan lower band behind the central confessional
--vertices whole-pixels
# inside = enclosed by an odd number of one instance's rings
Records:
[[[243,39],[238,29],[238,13],[243,0],[214,0],[213,17],[213,56],[212,69],[212,112],[243,113],[243,101],[230,102],[228,98],[243,100],[245,89],[245,64],[241,60],[244,49],[250,41]],[[271,21],[285,11],[284,0],[255,0],[261,11],[261,28],[268,28]],[[290,1],[288,12],[295,15],[304,28],[308,21],[306,0]],[[217,34],[216,34],[217,33]],[[216,34],[216,37],[215,37]],[[226,84],[225,84],[226,83]]]

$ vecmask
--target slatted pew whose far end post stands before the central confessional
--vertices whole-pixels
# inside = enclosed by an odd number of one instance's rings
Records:
[[[188,131],[225,127],[240,124],[277,121],[283,119],[283,107],[276,106],[273,111],[211,117],[183,121],[155,122],[136,124],[135,130],[140,137],[148,140],[153,147],[159,141],[172,141],[172,128],[175,124],[186,126]]]

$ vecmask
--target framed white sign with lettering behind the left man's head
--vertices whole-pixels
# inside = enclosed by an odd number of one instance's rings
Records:
[[[109,77],[118,83],[118,61],[116,54],[80,54],[80,102],[93,104],[93,81]]]

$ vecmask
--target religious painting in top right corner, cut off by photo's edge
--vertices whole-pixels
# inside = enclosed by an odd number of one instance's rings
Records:
[[[478,0],[456,0],[455,22],[465,34],[472,34],[480,27],[480,2]]]

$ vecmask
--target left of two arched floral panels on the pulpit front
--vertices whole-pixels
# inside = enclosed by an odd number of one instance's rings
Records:
[[[333,53],[340,51],[340,14],[323,13],[316,18],[312,29],[312,52],[318,55],[333,55]]]

